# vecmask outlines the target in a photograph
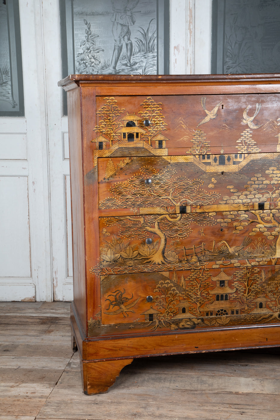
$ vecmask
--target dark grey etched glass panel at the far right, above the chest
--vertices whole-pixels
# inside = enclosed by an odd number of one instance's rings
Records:
[[[212,74],[280,72],[280,0],[212,1]]]

